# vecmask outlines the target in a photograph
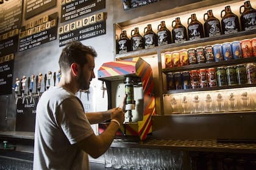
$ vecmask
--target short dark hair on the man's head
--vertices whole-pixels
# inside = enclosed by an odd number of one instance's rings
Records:
[[[72,63],[77,63],[80,66],[88,63],[87,56],[97,56],[97,53],[91,46],[85,46],[80,41],[73,41],[66,44],[59,58],[59,66],[62,72],[69,69]]]

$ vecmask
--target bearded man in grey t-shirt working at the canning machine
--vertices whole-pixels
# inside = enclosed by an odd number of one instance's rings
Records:
[[[79,41],[71,42],[59,58],[62,77],[43,93],[37,105],[34,169],[89,169],[88,155],[97,158],[109,148],[124,121],[124,103],[106,112],[86,113],[76,93],[89,89],[95,78],[96,52]],[[124,98],[125,100],[125,98]],[[90,124],[111,119],[96,136]]]

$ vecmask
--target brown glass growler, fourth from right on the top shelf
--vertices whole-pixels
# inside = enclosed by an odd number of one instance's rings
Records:
[[[191,22],[190,22],[191,19]],[[189,23],[190,22],[190,23]],[[191,14],[188,18],[188,40],[204,38],[204,30],[201,22],[196,18],[196,14]]]

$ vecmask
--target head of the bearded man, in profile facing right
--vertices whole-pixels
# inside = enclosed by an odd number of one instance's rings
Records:
[[[76,80],[77,88],[87,90],[90,81],[95,78],[93,69],[96,56],[92,47],[73,41],[62,50],[59,58],[60,70],[64,74],[70,72]]]

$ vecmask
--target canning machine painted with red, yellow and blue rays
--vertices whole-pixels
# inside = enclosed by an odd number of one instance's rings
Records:
[[[152,132],[151,117],[155,115],[154,81],[151,66],[142,58],[132,58],[102,64],[98,79],[107,87],[108,109],[126,100],[126,118],[116,135],[146,139]],[[109,123],[109,122],[108,122]],[[99,124],[101,134],[108,123]]]

